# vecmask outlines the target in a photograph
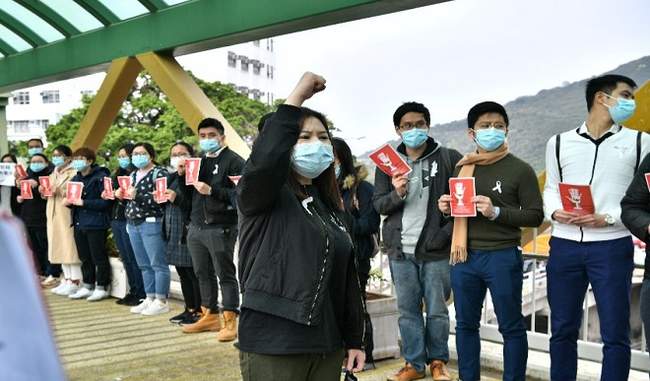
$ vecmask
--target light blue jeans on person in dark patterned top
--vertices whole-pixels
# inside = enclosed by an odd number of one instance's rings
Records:
[[[162,221],[143,222],[140,225],[128,223],[126,231],[131,239],[147,297],[166,299],[169,294],[169,265],[165,258],[165,241],[162,236]]]

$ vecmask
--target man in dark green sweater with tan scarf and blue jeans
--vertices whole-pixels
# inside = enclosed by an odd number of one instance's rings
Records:
[[[477,151],[458,162],[455,175],[474,177],[477,217],[455,218],[451,287],[456,309],[456,346],[460,378],[480,379],[479,326],[486,290],[503,335],[504,375],[525,380],[528,342],[521,314],[522,227],[544,219],[542,196],[533,169],[508,152],[508,115],[498,103],[483,102],[467,116],[468,136]],[[438,201],[449,214],[450,195]]]

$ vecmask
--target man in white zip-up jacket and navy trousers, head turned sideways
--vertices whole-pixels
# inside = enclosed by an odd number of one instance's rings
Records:
[[[630,367],[632,238],[621,223],[620,202],[650,137],[621,123],[635,109],[636,83],[604,75],[587,83],[587,120],[546,145],[544,212],[553,222],[547,266],[551,308],[551,379],[575,380],[577,339],[591,283],[604,343],[601,380],[627,380]],[[589,185],[595,213],[562,207],[559,183]]]

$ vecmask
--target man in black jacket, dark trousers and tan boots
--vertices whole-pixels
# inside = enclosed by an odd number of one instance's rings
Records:
[[[203,151],[198,181],[181,189],[177,197],[191,197],[187,248],[201,289],[202,316],[183,327],[185,333],[219,331],[219,341],[237,337],[239,284],[233,251],[237,240],[235,185],[229,176],[239,176],[244,160],[225,144],[221,122],[206,118],[198,126]],[[223,321],[219,315],[218,293],[221,286]]]

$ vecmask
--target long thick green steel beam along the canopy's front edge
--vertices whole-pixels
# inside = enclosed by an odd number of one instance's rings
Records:
[[[194,53],[443,1],[190,0],[0,59],[0,92],[96,73],[119,57]]]

